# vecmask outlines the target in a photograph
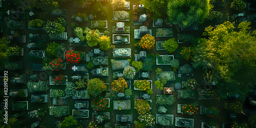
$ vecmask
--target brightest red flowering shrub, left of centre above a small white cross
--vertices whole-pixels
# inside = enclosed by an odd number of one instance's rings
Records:
[[[71,62],[73,64],[77,64],[77,63],[79,63],[80,60],[82,60],[81,57],[83,55],[81,55],[81,54],[83,54],[83,52],[79,53],[77,51],[72,50],[72,51],[67,51],[65,56],[66,56],[66,59],[67,59],[68,62]]]

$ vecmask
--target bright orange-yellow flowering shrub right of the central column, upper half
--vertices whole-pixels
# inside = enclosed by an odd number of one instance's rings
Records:
[[[155,38],[152,35],[145,34],[139,42],[137,42],[134,46],[138,46],[143,49],[151,49],[155,47]]]

